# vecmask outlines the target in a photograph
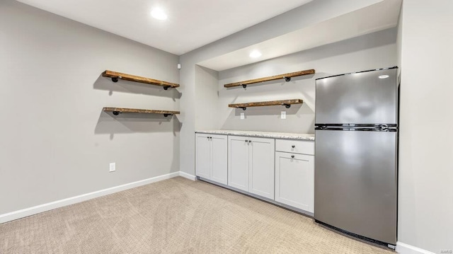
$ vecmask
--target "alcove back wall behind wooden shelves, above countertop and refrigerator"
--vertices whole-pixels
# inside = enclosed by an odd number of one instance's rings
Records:
[[[396,65],[396,28],[362,35],[284,57],[270,59],[219,72],[219,100],[217,129],[241,129],[269,132],[314,133],[315,79],[352,71],[365,71]],[[294,77],[285,82],[268,81],[224,88],[233,83],[293,71],[315,69],[316,74]],[[302,105],[269,106],[242,109],[228,108],[230,103],[248,103],[266,100],[302,99]],[[280,112],[286,111],[285,120]],[[246,115],[240,119],[241,112]]]

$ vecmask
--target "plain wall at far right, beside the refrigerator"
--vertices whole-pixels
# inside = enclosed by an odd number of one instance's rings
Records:
[[[453,1],[403,1],[398,241],[453,250]]]

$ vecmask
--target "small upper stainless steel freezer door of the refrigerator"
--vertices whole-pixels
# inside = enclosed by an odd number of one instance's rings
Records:
[[[397,69],[316,80],[316,124],[396,124]]]

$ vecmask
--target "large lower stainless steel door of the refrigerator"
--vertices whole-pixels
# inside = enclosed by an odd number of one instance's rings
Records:
[[[396,244],[397,134],[316,130],[316,220]]]

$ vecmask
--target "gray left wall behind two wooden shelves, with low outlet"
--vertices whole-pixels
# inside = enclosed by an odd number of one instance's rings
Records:
[[[178,83],[177,63],[176,55],[0,1],[0,214],[179,171],[176,117],[102,111],[179,110],[178,91],[100,76],[111,69]]]

